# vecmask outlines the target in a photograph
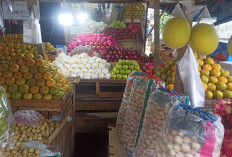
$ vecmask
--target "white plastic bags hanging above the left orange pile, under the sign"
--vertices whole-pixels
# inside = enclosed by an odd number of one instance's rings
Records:
[[[39,20],[30,18],[23,21],[23,42],[29,44],[42,43]]]

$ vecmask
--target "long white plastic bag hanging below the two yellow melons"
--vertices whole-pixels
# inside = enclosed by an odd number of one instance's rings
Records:
[[[185,94],[190,97],[191,105],[194,107],[204,107],[205,89],[198,74],[198,62],[189,45],[177,65]]]

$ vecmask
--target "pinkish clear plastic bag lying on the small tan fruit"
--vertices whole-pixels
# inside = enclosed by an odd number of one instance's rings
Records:
[[[19,110],[14,113],[16,123],[33,125],[40,121],[40,114],[34,110]]]

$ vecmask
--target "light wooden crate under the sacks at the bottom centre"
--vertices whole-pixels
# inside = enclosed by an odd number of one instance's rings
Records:
[[[122,143],[119,141],[116,127],[109,125],[109,146],[108,154],[109,157],[127,157],[126,151],[124,150]]]

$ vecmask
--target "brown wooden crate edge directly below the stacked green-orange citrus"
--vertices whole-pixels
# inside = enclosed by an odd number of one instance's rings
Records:
[[[70,87],[68,92],[61,100],[14,100],[9,99],[12,111],[35,110],[46,118],[52,118],[54,115],[67,117],[70,108],[75,104],[75,88]]]

